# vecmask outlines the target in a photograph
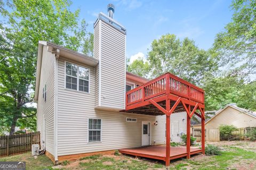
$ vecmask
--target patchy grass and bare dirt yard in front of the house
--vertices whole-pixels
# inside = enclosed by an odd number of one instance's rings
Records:
[[[219,145],[221,155],[202,156],[197,155],[191,159],[172,160],[170,169],[256,169],[255,146],[246,143],[234,145]],[[253,147],[252,149],[250,147]],[[124,155],[94,155],[81,158],[76,162],[63,162],[57,167],[45,155],[37,159],[31,157],[31,152],[21,155],[0,158],[0,161],[25,161],[27,169],[165,169],[164,162],[149,159],[134,159]]]

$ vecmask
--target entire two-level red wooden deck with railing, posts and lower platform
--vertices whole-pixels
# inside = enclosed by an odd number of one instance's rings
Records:
[[[205,152],[204,143],[204,90],[177,76],[166,73],[142,86],[126,92],[125,110],[121,112],[166,115],[166,147],[148,147],[121,149],[121,153],[164,160],[170,166],[170,159]],[[202,149],[190,148],[190,135],[187,135],[187,147],[170,149],[170,116],[175,112],[187,113],[187,134],[190,134],[190,120],[195,114],[201,118]],[[200,114],[201,113],[201,114]],[[157,148],[155,150],[155,148]],[[161,151],[160,151],[161,150]],[[164,154],[165,152],[165,155]],[[162,154],[161,154],[162,153]]]

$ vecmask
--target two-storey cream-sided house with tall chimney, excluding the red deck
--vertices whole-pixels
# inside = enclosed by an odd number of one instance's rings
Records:
[[[165,115],[119,112],[125,109],[125,91],[149,81],[125,71],[125,42],[126,29],[103,13],[94,23],[93,57],[39,41],[37,131],[53,162],[165,143]],[[142,138],[142,127],[149,138]],[[171,140],[179,142],[181,133],[185,112],[171,115]]]

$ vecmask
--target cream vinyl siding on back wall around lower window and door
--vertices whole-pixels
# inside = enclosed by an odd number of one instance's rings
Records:
[[[86,94],[65,89],[65,58],[59,58],[58,66],[58,156],[140,147],[142,121],[151,122],[152,145],[165,142],[165,115],[149,116],[95,109],[94,69],[89,67],[90,94]],[[126,122],[126,117],[137,118],[137,122]],[[101,142],[87,142],[89,118],[102,120]],[[157,126],[154,125],[155,121],[158,121]]]

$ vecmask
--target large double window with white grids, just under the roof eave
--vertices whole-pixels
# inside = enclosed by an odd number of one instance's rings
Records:
[[[66,62],[66,88],[89,92],[89,69]]]

